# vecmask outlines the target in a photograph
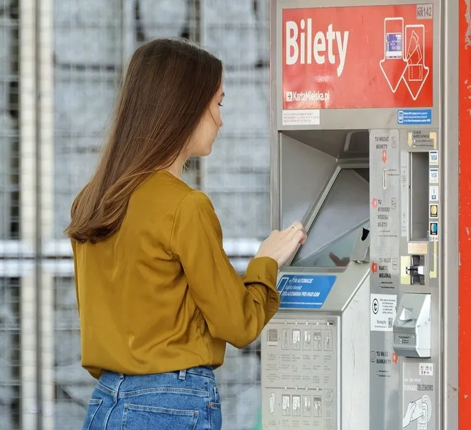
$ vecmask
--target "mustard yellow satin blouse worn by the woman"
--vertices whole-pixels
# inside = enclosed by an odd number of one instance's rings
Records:
[[[130,198],[119,231],[72,241],[82,366],[124,374],[222,364],[279,307],[277,263],[256,258],[242,278],[222,249],[207,196],[158,171]]]

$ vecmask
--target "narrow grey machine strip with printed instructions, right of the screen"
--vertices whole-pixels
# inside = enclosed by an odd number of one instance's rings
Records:
[[[378,264],[378,271],[370,274],[371,318],[374,318],[374,302],[382,303],[392,300],[397,304],[399,281],[399,246],[400,246],[400,165],[399,165],[399,132],[398,130],[372,130],[369,138],[369,185],[371,244],[370,259]],[[387,151],[387,163],[382,163],[383,151]],[[384,174],[387,182],[384,187]],[[380,311],[381,312],[381,311]],[[374,362],[370,366],[371,411],[370,427],[396,430],[400,422],[399,407],[399,366],[393,363],[393,315],[384,315],[387,324],[372,324],[370,333],[370,350],[380,352],[387,361]],[[380,318],[381,319],[381,318]],[[371,395],[373,394],[374,395]],[[387,398],[388,401],[384,401]]]

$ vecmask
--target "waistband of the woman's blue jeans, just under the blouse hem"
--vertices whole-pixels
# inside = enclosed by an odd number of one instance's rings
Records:
[[[118,390],[120,392],[129,392],[142,390],[144,387],[159,386],[162,385],[162,383],[170,382],[172,379],[174,381],[178,381],[179,379],[184,380],[187,374],[215,379],[213,368],[198,366],[185,370],[177,370],[176,372],[137,375],[127,375],[106,370],[100,377],[98,384],[112,392],[117,392]]]

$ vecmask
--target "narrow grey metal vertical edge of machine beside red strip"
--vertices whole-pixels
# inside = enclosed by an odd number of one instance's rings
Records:
[[[441,285],[440,309],[443,324],[443,369],[441,381],[439,381],[439,403],[442,405],[440,428],[455,430],[458,428],[458,351],[459,351],[459,322],[457,312],[459,291],[459,252],[458,252],[458,206],[459,206],[459,140],[458,119],[458,47],[469,40],[458,40],[459,29],[459,2],[442,1],[442,27],[443,27],[443,53],[441,58],[446,58],[442,69],[441,94],[443,95],[443,110],[441,116],[442,139],[439,141],[441,153],[441,249],[439,261],[441,261]],[[468,10],[470,2],[467,0]],[[470,16],[467,14],[468,23]]]

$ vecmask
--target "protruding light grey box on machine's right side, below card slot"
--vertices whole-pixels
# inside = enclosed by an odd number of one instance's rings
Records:
[[[430,358],[430,299],[430,294],[406,293],[402,296],[393,324],[393,348],[396,354]]]

